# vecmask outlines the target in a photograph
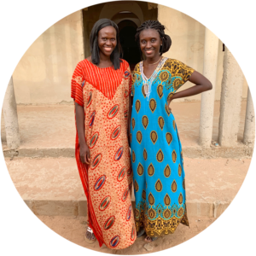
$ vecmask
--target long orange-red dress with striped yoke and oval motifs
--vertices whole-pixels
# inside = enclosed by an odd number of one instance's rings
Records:
[[[128,145],[128,111],[131,71],[122,60],[120,68],[96,67],[80,61],[73,73],[71,96],[84,107],[85,141],[90,166],[76,160],[87,198],[88,221],[100,247],[131,246],[136,227],[131,207],[132,171]]]

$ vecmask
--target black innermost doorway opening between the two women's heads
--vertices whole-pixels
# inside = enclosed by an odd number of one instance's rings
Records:
[[[132,71],[135,65],[141,61],[140,51],[135,42],[137,25],[131,20],[122,20],[118,26],[120,44],[123,49],[123,59],[129,63]]]

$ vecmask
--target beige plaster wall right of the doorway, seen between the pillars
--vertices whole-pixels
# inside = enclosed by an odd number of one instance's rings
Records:
[[[171,49],[165,54],[166,57],[183,61],[190,67],[203,73],[205,25],[189,14],[179,9],[174,9],[165,4],[158,4],[158,20],[166,26],[166,33],[172,38]],[[218,70],[215,90],[215,100],[220,100],[221,81],[223,76],[223,40],[219,39],[218,47]],[[193,86],[190,82],[181,87],[180,90]],[[248,82],[245,79],[242,90],[242,97],[247,97]],[[176,101],[201,100],[201,95],[190,96]]]

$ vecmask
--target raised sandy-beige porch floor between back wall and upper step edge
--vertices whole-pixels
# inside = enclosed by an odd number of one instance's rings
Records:
[[[243,137],[246,101],[241,102],[238,141]],[[218,140],[220,102],[214,103],[212,139]],[[172,102],[172,113],[183,147],[197,146],[201,102]],[[73,148],[75,120],[73,105],[18,106],[20,148]],[[3,113],[0,113],[2,149],[6,148]]]

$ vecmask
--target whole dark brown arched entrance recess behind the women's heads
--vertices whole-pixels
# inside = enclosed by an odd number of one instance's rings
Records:
[[[152,9],[152,4],[157,6],[157,3],[144,0],[111,0],[94,3],[84,8],[84,57],[86,58],[90,55],[90,32],[93,25],[99,19],[108,18],[119,26],[121,41],[123,41],[122,46],[125,51],[124,58],[127,59],[131,69],[133,69],[134,65],[140,61],[139,49],[134,42],[137,26],[140,26],[143,20],[157,20],[157,9]],[[130,46],[127,45],[128,42],[131,43]],[[133,49],[134,51],[129,55],[128,52]]]

